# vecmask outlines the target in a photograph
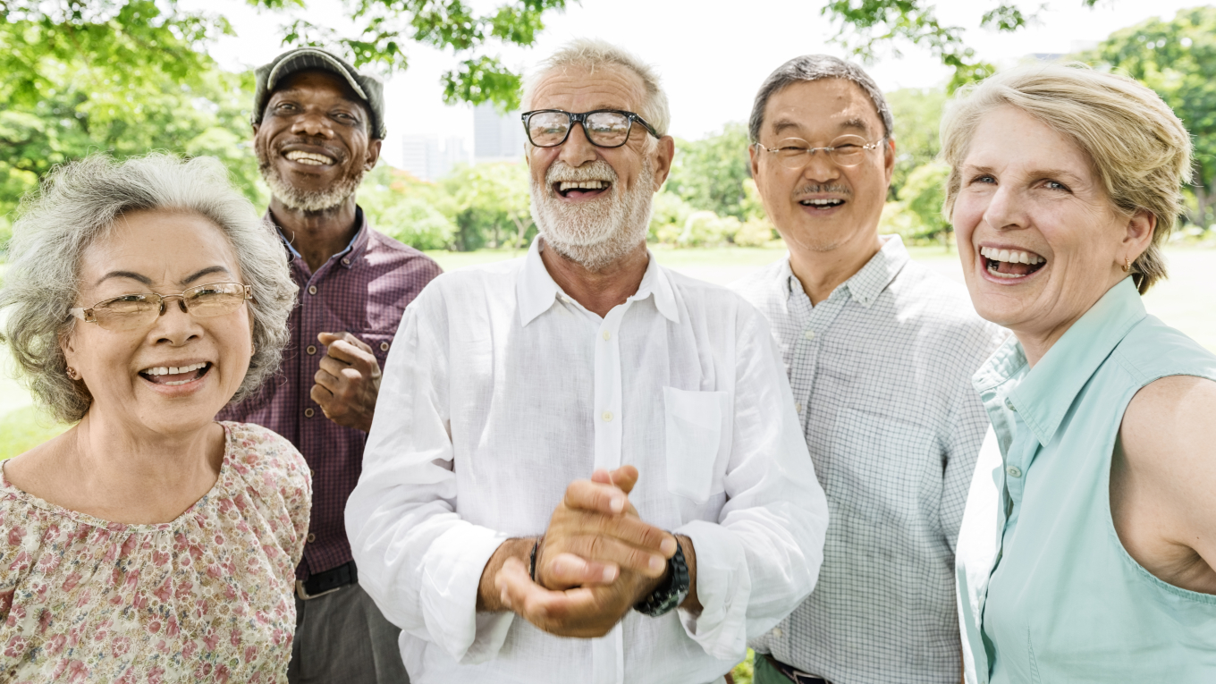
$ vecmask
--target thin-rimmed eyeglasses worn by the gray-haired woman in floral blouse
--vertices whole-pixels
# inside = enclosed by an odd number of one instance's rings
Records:
[[[240,282],[212,282],[184,290],[180,295],[135,292],[119,295],[84,308],[68,309],[73,316],[95,323],[105,330],[135,330],[152,325],[164,315],[169,299],[176,298],[182,313],[198,318],[221,316],[237,310],[246,299],[253,299],[253,288]]]

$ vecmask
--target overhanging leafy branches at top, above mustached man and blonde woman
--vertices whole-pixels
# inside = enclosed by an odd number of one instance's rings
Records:
[[[1080,2],[1092,7],[1098,0]],[[883,49],[899,56],[901,45],[914,44],[955,69],[950,91],[991,74],[992,66],[963,43],[963,29],[942,24],[934,5],[931,0],[829,0],[822,12],[839,27],[834,41],[866,61]],[[1035,11],[1024,11],[1018,2],[986,0],[985,5],[990,9],[980,21],[983,28],[1010,33],[1035,19]]]

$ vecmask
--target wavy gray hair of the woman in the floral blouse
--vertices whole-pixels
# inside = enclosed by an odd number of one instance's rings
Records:
[[[60,341],[77,319],[80,259],[109,235],[123,214],[147,209],[191,212],[213,222],[231,241],[248,301],[257,349],[232,397],[238,402],[278,370],[287,316],[295,303],[287,258],[274,229],[229,181],[219,159],[181,161],[148,155],[116,162],[94,156],[56,168],[41,192],[24,200],[9,242],[9,271],[0,290],[7,313],[0,342],[12,351],[34,398],[63,422],[84,417],[92,397],[67,376]]]

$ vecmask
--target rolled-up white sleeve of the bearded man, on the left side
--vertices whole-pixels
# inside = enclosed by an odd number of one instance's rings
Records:
[[[456,514],[447,414],[446,308],[415,299],[381,382],[345,525],[359,584],[390,622],[463,663],[492,658],[514,613],[478,613],[482,570],[506,537]]]

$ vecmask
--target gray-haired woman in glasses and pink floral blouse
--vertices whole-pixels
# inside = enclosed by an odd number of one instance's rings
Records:
[[[0,471],[0,679],[286,682],[310,480],[218,424],[295,286],[220,163],[94,157],[13,225],[2,340],[67,432]]]

